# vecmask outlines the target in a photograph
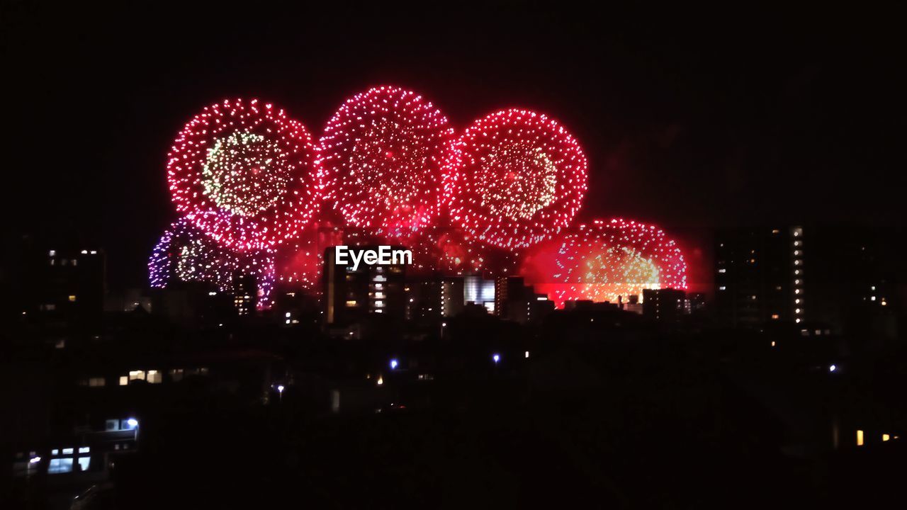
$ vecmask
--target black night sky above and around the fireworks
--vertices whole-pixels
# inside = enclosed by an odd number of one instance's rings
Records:
[[[658,223],[694,263],[727,225],[902,231],[894,13],[76,4],[3,3],[5,228],[99,243],[113,287],[143,283],[176,219],[165,155],[201,106],[255,96],[317,133],[381,83],[457,127],[507,106],[550,113],[590,159],[581,217]]]

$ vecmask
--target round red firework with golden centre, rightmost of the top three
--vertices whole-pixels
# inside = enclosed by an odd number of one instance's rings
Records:
[[[586,192],[586,157],[551,118],[502,110],[474,122],[448,152],[450,215],[463,230],[508,250],[567,227]]]

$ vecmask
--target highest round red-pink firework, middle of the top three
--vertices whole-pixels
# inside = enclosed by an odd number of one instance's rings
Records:
[[[409,240],[432,225],[444,194],[453,128],[422,96],[375,87],[346,100],[327,123],[317,166],[346,223]]]

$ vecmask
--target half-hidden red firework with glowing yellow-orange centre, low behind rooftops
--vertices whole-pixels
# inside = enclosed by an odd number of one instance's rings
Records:
[[[534,247],[522,274],[558,308],[565,300],[617,302],[643,289],[687,289],[687,263],[663,230],[637,221],[593,221]]]

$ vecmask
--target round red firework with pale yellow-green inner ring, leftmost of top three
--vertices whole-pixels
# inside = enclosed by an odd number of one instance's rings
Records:
[[[234,250],[293,237],[317,210],[316,147],[305,126],[258,100],[204,108],[168,154],[177,211]]]

